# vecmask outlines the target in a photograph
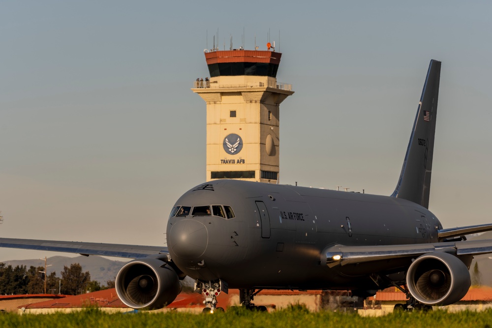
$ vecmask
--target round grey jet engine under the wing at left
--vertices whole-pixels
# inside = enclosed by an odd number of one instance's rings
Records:
[[[160,309],[181,293],[181,282],[167,263],[152,258],[137,259],[118,272],[116,293],[131,308]]]

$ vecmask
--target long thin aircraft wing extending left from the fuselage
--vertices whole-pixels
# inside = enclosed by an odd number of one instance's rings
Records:
[[[76,253],[85,256],[102,255],[124,257],[128,259],[138,259],[159,254],[167,255],[169,257],[167,247],[105,244],[97,242],[0,238],[0,247]]]

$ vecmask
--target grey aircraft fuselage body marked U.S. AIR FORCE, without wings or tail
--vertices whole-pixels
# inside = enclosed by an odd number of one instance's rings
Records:
[[[207,206],[210,214],[193,213]],[[178,216],[181,207],[189,213]],[[232,218],[217,212],[228,207]],[[371,272],[399,272],[410,260],[350,272],[327,267],[324,250],[437,242],[442,229],[428,209],[395,197],[238,180],[197,186],[174,209],[167,226],[173,262],[191,278],[222,279],[230,288],[367,286]]]

